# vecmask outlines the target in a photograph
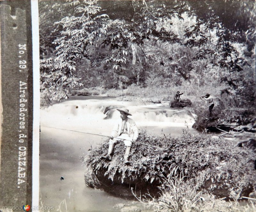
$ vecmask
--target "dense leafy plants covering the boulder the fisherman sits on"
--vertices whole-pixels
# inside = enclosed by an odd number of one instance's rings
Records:
[[[112,161],[101,159],[101,155],[106,154],[107,150],[108,142],[104,141],[91,149],[84,159],[86,167],[92,168],[104,185],[105,180],[110,179],[115,184],[128,186],[127,190],[134,188],[135,182],[139,190],[141,181],[148,184],[148,188],[150,185],[156,188],[161,185],[163,177],[169,175],[170,169],[175,168],[173,177],[176,172],[184,173],[184,180],[195,180],[197,190],[207,190],[219,197],[239,199],[241,195],[246,196],[252,192],[255,186],[255,152],[207,134],[194,136],[184,130],[181,137],[174,138],[170,135],[152,137],[142,132],[132,145],[130,166],[124,165],[122,159],[123,143],[115,146]]]

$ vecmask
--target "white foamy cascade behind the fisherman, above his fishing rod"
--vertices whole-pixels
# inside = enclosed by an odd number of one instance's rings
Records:
[[[127,107],[139,129],[192,126],[193,114],[186,109],[172,109],[160,104],[121,102],[113,99],[72,100],[41,110],[41,126],[109,135],[120,119],[116,109]],[[103,113],[105,111],[105,114]],[[158,134],[158,133],[156,133]]]

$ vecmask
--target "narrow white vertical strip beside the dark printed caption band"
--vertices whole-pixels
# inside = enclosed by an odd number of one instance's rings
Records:
[[[40,62],[38,1],[31,0],[33,50],[32,206],[39,205]],[[34,210],[37,211],[37,210]]]

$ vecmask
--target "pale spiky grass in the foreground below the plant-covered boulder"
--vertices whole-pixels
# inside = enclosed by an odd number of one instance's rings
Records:
[[[133,195],[139,200],[144,211],[157,212],[255,212],[256,199],[254,201],[225,201],[217,199],[209,193],[197,191],[194,182],[186,181],[184,171],[180,172],[177,166],[170,170],[167,177],[161,176],[162,185],[159,186],[159,198],[149,193],[143,196]]]

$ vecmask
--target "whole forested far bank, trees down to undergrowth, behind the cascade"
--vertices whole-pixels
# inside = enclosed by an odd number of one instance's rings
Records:
[[[226,121],[255,121],[254,1],[39,1],[39,14],[42,104],[209,92]]]

